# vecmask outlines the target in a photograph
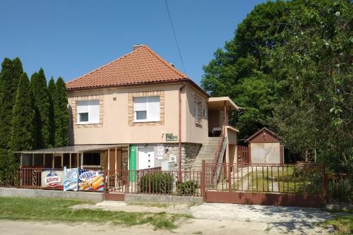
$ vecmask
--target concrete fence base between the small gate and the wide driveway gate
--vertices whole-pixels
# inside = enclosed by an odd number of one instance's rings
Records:
[[[141,195],[141,194],[126,194],[125,203],[138,204],[169,204],[169,205],[199,205],[203,203],[203,198],[199,197],[184,197],[172,195]]]

